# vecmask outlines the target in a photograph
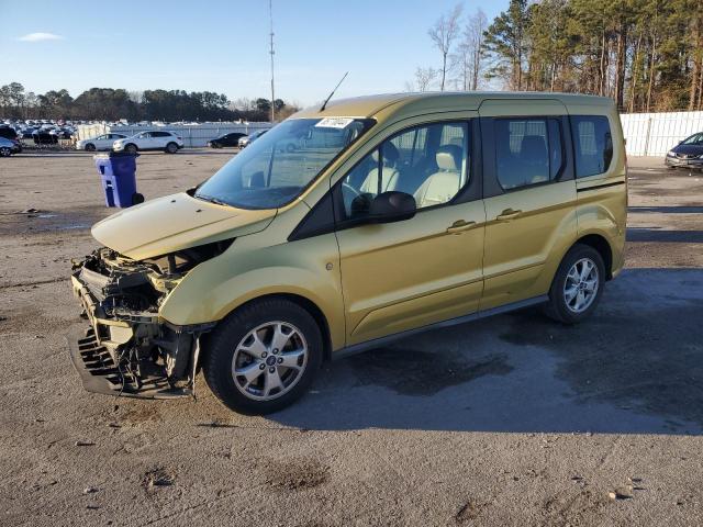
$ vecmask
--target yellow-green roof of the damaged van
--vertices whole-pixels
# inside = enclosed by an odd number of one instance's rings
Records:
[[[320,111],[320,105],[310,106],[298,112],[294,117],[371,117],[378,114],[381,110],[389,109],[390,106],[394,106],[392,109],[394,112],[406,106],[416,106],[417,111],[477,110],[483,101],[489,99],[553,100],[561,101],[567,106],[570,104],[579,104],[610,108],[614,104],[614,101],[606,97],[536,91],[384,93],[378,96],[356,97],[353,99],[331,100],[324,111]]]

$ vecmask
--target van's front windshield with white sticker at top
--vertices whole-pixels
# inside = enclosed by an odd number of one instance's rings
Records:
[[[194,195],[238,209],[278,209],[300,195],[372,124],[343,117],[283,121],[237,154]]]

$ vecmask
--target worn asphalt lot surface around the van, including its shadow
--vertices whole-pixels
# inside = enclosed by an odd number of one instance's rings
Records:
[[[143,155],[140,190],[231,155]],[[202,379],[197,402],[85,392],[65,336],[70,258],[111,212],[92,159],[0,161],[0,525],[701,525],[703,175],[631,159],[626,269],[589,322],[427,333],[264,418]]]

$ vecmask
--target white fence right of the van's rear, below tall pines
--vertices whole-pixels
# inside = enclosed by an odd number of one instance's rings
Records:
[[[624,113],[629,156],[663,156],[681,139],[703,132],[703,112]]]

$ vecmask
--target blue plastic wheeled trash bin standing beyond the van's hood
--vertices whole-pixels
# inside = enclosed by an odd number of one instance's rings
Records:
[[[136,193],[137,156],[138,154],[122,152],[93,156],[105,194],[105,205],[126,209],[144,200]]]

